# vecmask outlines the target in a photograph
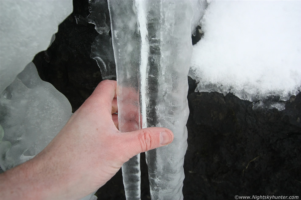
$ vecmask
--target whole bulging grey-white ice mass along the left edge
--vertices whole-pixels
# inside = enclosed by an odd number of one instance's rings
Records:
[[[0,4],[0,167],[5,171],[37,155],[71,116],[67,98],[42,81],[30,61],[55,40],[72,1]],[[82,200],[96,200],[94,193]]]

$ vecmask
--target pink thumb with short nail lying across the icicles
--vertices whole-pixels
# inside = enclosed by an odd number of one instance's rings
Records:
[[[174,134],[167,128],[150,127],[135,130],[127,134],[128,147],[132,156],[141,152],[146,152],[157,147],[170,144],[174,139]]]

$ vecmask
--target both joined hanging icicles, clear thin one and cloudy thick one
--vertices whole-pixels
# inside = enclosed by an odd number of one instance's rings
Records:
[[[174,141],[146,153],[152,199],[183,199],[191,32],[206,1],[109,0],[119,130],[167,127]],[[140,199],[140,156],[123,164],[127,199]]]

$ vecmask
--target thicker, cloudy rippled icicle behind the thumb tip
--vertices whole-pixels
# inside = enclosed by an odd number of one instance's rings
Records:
[[[143,1],[149,46],[143,128],[167,127],[174,141],[146,153],[152,199],[183,199],[184,155],[187,149],[187,74],[192,53],[193,9],[184,1]],[[144,113],[144,112],[143,112]]]

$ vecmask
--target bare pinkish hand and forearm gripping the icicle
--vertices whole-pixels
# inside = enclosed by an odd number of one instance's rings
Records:
[[[151,127],[120,133],[116,81],[102,81],[36,157],[0,174],[0,199],[80,199],[103,186],[138,153],[174,135]]]

